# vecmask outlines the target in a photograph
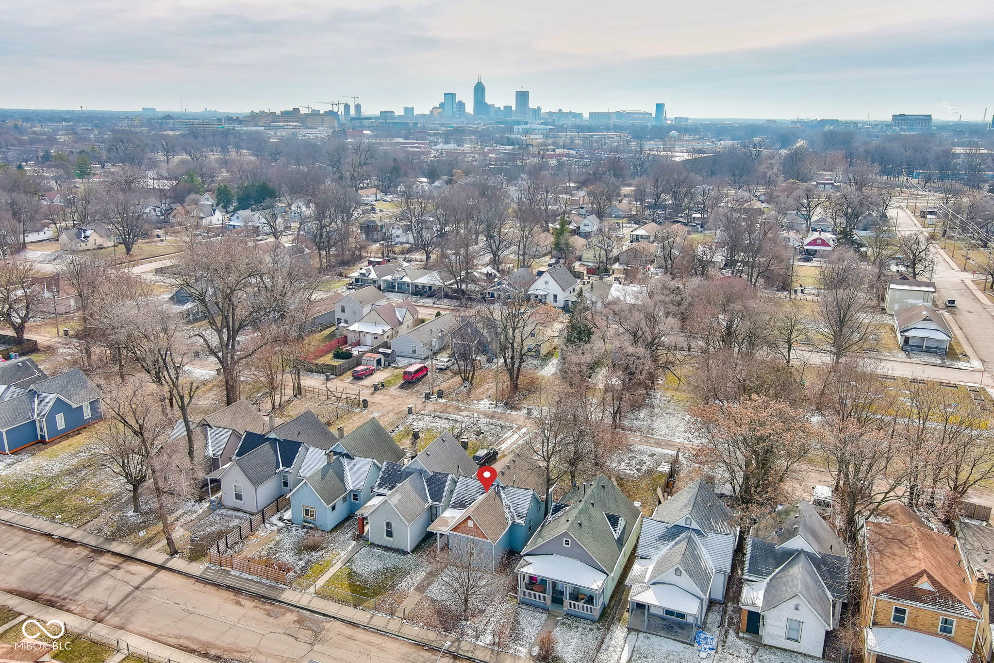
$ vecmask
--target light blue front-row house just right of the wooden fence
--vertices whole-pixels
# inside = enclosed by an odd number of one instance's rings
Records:
[[[333,529],[370,500],[384,465],[403,457],[376,418],[336,439],[326,451],[310,450],[299,472],[301,481],[290,493],[293,522]]]

